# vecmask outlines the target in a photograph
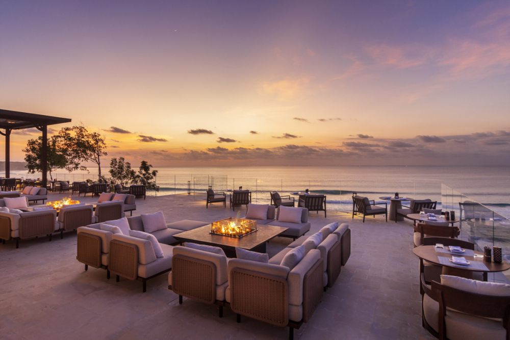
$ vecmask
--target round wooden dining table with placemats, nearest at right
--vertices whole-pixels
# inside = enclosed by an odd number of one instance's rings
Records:
[[[510,264],[495,263],[483,260],[483,253],[470,249],[463,249],[462,253],[451,252],[447,246],[418,246],[413,253],[424,261],[443,267],[442,273],[446,275],[472,278],[473,272],[483,273],[483,281],[487,281],[488,273],[504,272],[510,269]],[[452,256],[464,257],[468,264],[458,265],[452,262]]]

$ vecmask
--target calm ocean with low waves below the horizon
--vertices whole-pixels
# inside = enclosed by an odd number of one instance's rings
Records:
[[[108,169],[102,170],[108,176]],[[208,186],[212,186],[215,191],[242,186],[252,191],[252,201],[257,203],[268,203],[270,191],[289,195],[310,189],[312,193],[326,195],[327,210],[349,212],[352,210],[353,192],[376,201],[381,201],[378,197],[398,192],[400,196],[430,198],[438,201],[441,206],[443,184],[464,194],[464,199],[482,203],[496,213],[510,217],[508,167],[303,165],[179,167],[157,170],[156,180],[160,189],[156,195],[187,193],[188,181],[192,195],[205,192]],[[54,178],[70,181],[95,179],[96,173],[58,171]],[[11,171],[11,176],[37,178],[40,174]]]

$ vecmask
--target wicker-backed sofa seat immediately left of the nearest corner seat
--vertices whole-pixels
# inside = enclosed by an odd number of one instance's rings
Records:
[[[183,303],[183,296],[207,304],[216,304],[219,306],[221,318],[227,287],[225,255],[182,246],[173,248],[168,289],[179,295],[179,304]]]

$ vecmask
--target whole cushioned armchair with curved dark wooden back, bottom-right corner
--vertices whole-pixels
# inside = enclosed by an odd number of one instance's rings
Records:
[[[442,275],[428,285],[423,275],[422,325],[439,339],[510,338],[508,284]]]

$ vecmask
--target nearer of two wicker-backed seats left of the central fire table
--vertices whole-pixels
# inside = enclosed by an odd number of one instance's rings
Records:
[[[120,277],[142,281],[142,292],[145,293],[148,279],[172,269],[173,247],[161,244],[161,249],[164,256],[156,257],[150,241],[114,234],[110,242],[108,269],[116,275],[117,282]]]

